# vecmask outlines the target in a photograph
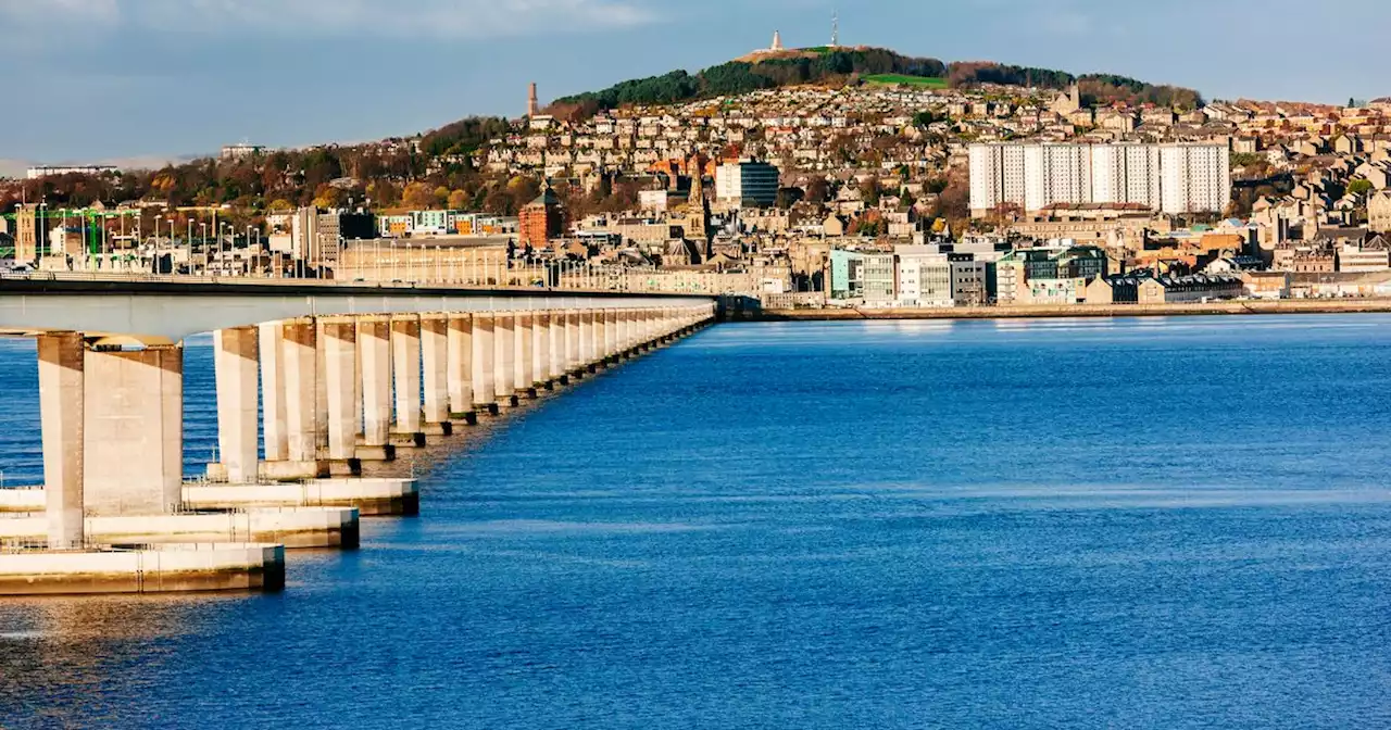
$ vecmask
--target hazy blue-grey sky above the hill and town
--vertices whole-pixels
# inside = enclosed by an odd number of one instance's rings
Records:
[[[1212,97],[1391,95],[1385,0],[0,0],[0,160],[412,133],[769,43],[1110,71]]]

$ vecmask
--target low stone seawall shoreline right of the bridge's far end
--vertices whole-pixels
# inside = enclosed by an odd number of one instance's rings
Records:
[[[939,309],[768,309],[744,311],[743,316],[730,321],[1028,320],[1377,313],[1391,313],[1391,299],[1280,299],[1191,305],[1027,305]]]

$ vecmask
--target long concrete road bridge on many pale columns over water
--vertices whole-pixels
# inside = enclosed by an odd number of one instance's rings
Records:
[[[419,509],[363,464],[714,321],[709,296],[153,277],[0,279],[38,341],[43,485],[0,491],[0,595],[284,585]],[[184,480],[184,341],[211,332],[217,462]]]

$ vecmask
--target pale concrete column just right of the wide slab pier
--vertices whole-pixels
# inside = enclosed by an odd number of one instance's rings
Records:
[[[217,381],[217,453],[231,484],[255,484],[260,474],[256,428],[256,370],[260,331],[236,327],[213,332]]]

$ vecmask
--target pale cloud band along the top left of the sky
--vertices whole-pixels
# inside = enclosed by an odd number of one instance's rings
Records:
[[[0,26],[67,33],[255,32],[300,38],[456,39],[632,28],[658,21],[637,0],[0,0]]]

